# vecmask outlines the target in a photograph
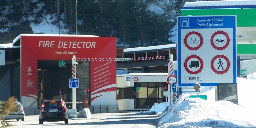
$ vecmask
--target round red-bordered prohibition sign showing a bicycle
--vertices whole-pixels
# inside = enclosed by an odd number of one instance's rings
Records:
[[[188,42],[188,36],[190,36],[190,35],[192,35],[192,34],[195,34],[195,35],[197,35],[199,38],[200,38],[200,41],[199,41],[199,44],[198,44],[198,46],[196,46],[196,47],[190,47],[188,44],[189,44],[189,42]],[[195,40],[196,40],[196,38],[195,38]],[[190,40],[189,40],[190,41]],[[191,41],[193,41],[193,39],[191,38]],[[191,32],[189,32],[189,33],[187,33],[186,34],[186,36],[184,37],[184,45],[189,49],[189,50],[191,50],[191,51],[196,51],[196,50],[198,50],[199,48],[201,48],[202,46],[203,46],[203,42],[204,42],[204,39],[203,39],[203,36],[199,33],[199,32],[196,32],[196,31],[191,31]],[[192,43],[192,42],[191,42]],[[190,43],[190,44],[191,44]]]

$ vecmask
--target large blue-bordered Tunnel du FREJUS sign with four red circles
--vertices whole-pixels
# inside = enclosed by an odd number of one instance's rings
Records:
[[[179,87],[236,83],[236,16],[179,16],[177,25]]]

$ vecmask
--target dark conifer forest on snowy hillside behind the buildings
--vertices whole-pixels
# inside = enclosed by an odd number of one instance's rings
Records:
[[[40,23],[50,14],[59,34],[112,36],[126,47],[172,44],[171,29],[188,1],[192,0],[0,0],[0,36],[8,40],[33,33],[31,22]]]

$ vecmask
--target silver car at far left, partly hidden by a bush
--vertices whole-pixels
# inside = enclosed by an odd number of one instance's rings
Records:
[[[24,121],[24,110],[22,105],[19,102],[15,102],[17,104],[17,107],[20,108],[18,110],[18,112],[10,112],[9,115],[5,116],[5,120],[10,120],[10,119],[16,119],[17,121],[19,121],[21,119],[21,121]]]

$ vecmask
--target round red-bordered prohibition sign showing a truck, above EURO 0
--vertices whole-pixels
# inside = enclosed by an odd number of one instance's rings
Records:
[[[190,60],[190,59],[192,59],[192,58],[196,58],[196,59],[199,60],[199,62],[200,62],[199,69],[196,70],[196,71],[191,71],[191,70],[188,69],[188,64],[189,64],[189,63],[188,63],[188,60]],[[203,68],[204,68],[204,61],[203,61],[203,59],[202,59],[201,57],[199,57],[199,56],[197,56],[197,55],[190,55],[190,56],[188,56],[188,57],[186,58],[186,60],[185,60],[185,62],[184,62],[184,68],[185,68],[185,70],[186,70],[189,74],[191,74],[191,75],[196,75],[196,74],[200,73],[200,72],[203,70]]]

